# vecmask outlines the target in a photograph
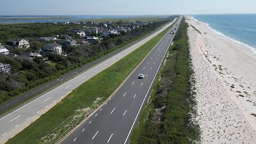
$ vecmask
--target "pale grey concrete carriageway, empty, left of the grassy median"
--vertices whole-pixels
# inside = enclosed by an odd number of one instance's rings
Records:
[[[102,70],[113,65],[118,60],[125,57],[127,54],[131,53],[139,46],[148,42],[151,38],[155,37],[167,27],[171,26],[173,22],[168,23],[162,29],[156,31],[154,34],[146,37],[142,41],[132,45],[131,47],[119,52],[113,57],[99,63],[98,65],[92,67],[91,69],[85,71],[81,75],[70,79],[55,89],[39,95],[39,97],[26,105],[14,110],[12,113],[4,115],[0,118],[0,143],[6,142],[9,138],[14,137],[15,134],[19,133],[25,129],[31,122],[34,122],[42,114],[46,113],[49,109],[55,106],[59,101],[66,97],[72,90],[74,90],[79,85],[86,82],[88,79],[100,73]],[[144,85],[143,85],[144,86]]]

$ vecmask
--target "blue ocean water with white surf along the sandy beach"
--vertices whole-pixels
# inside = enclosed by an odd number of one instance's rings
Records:
[[[215,32],[242,43],[256,51],[256,14],[191,15],[207,23]]]

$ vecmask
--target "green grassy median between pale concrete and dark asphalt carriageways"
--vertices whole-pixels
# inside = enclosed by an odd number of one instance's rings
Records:
[[[83,83],[7,143],[55,143],[105,101],[171,27]]]

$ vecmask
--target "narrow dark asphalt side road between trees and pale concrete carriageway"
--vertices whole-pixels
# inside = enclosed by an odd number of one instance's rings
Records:
[[[141,41],[144,38],[145,37],[139,38],[135,42],[139,42],[139,41]],[[0,105],[0,112],[5,111],[5,110],[7,110],[7,109],[9,109],[9,108],[11,108],[13,106],[18,105],[18,103],[20,103],[21,101],[25,101],[25,100],[27,100],[27,99],[29,99],[31,97],[34,97],[38,93],[44,92],[45,90],[49,89],[49,87],[53,87],[53,86],[55,86],[55,85],[57,85],[59,83],[67,81],[67,79],[69,79],[70,77],[75,76],[75,75],[77,75],[79,73],[82,73],[83,71],[85,71],[86,69],[96,65],[97,63],[99,63],[99,62],[101,62],[103,60],[106,60],[106,59],[112,57],[113,55],[115,55],[115,54],[117,54],[117,53],[127,49],[127,47],[129,47],[129,46],[123,46],[123,47],[121,47],[121,48],[119,48],[119,49],[117,49],[117,50],[115,50],[115,51],[113,51],[111,53],[108,53],[107,55],[104,55],[103,57],[101,57],[101,58],[99,58],[97,60],[94,60],[94,61],[88,63],[87,65],[83,66],[82,68],[78,68],[78,69],[72,70],[69,73],[64,74],[63,76],[61,76],[59,78],[56,78],[56,79],[54,79],[53,81],[51,81],[49,83],[43,84],[41,86],[36,87],[35,89],[33,89],[31,91],[28,91],[28,92],[20,94],[19,97],[15,97],[15,98],[13,98],[10,101],[1,103],[1,105]]]

